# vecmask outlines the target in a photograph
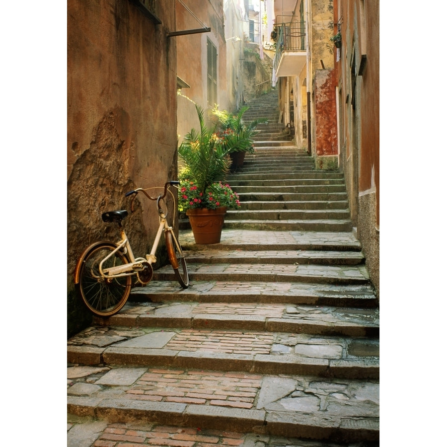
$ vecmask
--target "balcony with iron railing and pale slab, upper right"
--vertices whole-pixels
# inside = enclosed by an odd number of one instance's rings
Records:
[[[306,28],[304,22],[281,23],[273,61],[276,77],[296,76],[306,64]]]

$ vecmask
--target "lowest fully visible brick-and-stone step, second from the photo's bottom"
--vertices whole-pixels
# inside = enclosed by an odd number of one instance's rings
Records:
[[[108,423],[138,420],[317,440],[330,436],[335,442],[378,441],[377,380],[150,367],[138,368],[129,383],[120,370],[128,368],[68,379],[69,414]],[[95,427],[94,433],[108,425]]]

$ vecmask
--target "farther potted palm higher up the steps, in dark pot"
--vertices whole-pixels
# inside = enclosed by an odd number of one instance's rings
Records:
[[[236,115],[230,114],[226,110],[220,111],[218,106],[213,109],[213,113],[219,119],[219,135],[231,158],[230,171],[232,172],[242,167],[247,152],[254,152],[253,138],[257,133],[256,126],[267,122],[265,118],[245,122],[243,115],[248,108],[248,106],[243,106]]]

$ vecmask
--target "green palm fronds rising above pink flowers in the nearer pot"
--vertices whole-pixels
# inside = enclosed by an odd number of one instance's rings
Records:
[[[178,154],[185,161],[182,176],[193,181],[199,192],[205,194],[214,182],[224,180],[231,163],[228,149],[222,138],[216,134],[216,127],[208,129],[203,117],[203,109],[196,104],[200,129],[191,129],[178,148]]]

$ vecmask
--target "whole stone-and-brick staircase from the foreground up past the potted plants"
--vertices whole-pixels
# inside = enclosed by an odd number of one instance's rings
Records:
[[[219,244],[179,230],[188,289],[162,267],[68,340],[69,446],[378,446],[378,303],[343,176],[278,141],[228,179]]]

